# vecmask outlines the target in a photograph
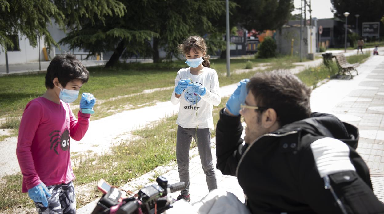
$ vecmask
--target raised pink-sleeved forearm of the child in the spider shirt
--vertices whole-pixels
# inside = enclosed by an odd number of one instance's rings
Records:
[[[71,108],[68,106],[70,109],[70,133],[71,137],[74,140],[81,140],[85,133],[88,130],[88,125],[89,125],[89,118],[91,117],[91,114],[84,114],[79,111],[77,114],[78,119],[74,116]]]

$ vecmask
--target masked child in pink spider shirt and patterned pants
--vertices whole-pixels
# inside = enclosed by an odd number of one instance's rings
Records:
[[[96,99],[83,93],[78,119],[70,105],[78,98],[89,72],[73,55],[52,59],[45,76],[47,90],[25,107],[17,141],[17,159],[28,192],[39,213],[75,213],[75,178],[70,137],[81,140],[88,130]]]

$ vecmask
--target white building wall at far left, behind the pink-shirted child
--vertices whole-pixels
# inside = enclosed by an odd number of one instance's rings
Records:
[[[43,47],[44,39],[40,38],[40,50],[37,43],[36,47],[32,47],[29,44],[29,39],[19,34],[19,47],[20,51],[8,51],[8,64],[22,64],[26,62],[38,62],[39,54],[41,61],[45,61]],[[5,53],[0,47],[0,65],[5,65]]]

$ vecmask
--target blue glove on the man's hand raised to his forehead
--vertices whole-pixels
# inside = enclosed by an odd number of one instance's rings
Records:
[[[248,91],[247,91],[248,82],[249,82],[249,79],[240,80],[240,82],[237,83],[237,88],[235,92],[233,92],[233,94],[228,99],[227,104],[225,104],[227,109],[233,115],[240,114],[240,104],[245,102],[245,98],[248,95]]]

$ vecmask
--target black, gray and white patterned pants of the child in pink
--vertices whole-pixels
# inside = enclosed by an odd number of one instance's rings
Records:
[[[47,186],[52,196],[48,198],[48,207],[35,203],[39,214],[76,213],[76,197],[73,182]]]

